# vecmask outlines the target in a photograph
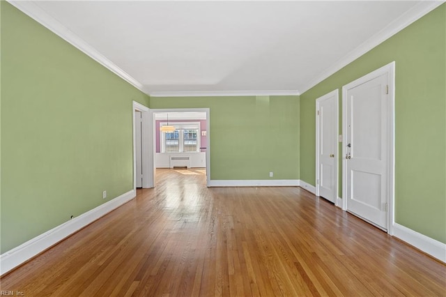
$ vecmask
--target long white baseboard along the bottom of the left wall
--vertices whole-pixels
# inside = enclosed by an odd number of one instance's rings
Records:
[[[125,204],[135,196],[136,192],[130,190],[121,196],[107,201],[105,204],[93,208],[91,211],[82,213],[82,215],[26,241],[26,243],[22,243],[22,245],[13,248],[13,250],[0,254],[0,275],[7,273],[25,261],[28,261],[40,252],[47,250],[47,248],[50,248],[52,245],[59,243],[63,238],[70,236],[79,229],[91,224],[91,222],[98,220],[98,218],[101,218],[103,215],[106,215],[115,208]]]

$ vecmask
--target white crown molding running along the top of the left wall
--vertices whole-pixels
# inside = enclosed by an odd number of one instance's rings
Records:
[[[76,47],[81,52],[84,52],[84,54],[86,54],[87,56],[90,56],[91,59],[97,61],[102,66],[112,71],[112,73],[118,75],[118,77],[121,77],[129,84],[132,84],[132,86],[139,89],[139,91],[145,93],[144,86],[140,82],[138,82],[124,70],[116,66],[105,56],[102,56],[100,52],[91,47],[91,45],[82,40],[82,38],[79,38],[79,36],[70,31],[70,29],[66,28],[66,26],[63,26],[63,24],[54,19],[54,17],[47,14],[35,3],[35,1],[6,1],[15,6],[15,8],[21,10],[22,13],[31,17],[33,20],[36,20],[36,22],[45,26],[47,29],[55,33],[57,36],[61,37],[63,40],[66,40],[68,43]]]

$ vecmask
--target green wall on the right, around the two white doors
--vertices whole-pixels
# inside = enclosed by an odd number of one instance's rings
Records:
[[[445,30],[443,4],[300,96],[300,178],[314,185],[315,100],[334,89],[339,89],[341,95],[344,84],[396,62],[395,221],[443,243],[446,243]],[[342,98],[339,109],[341,102]],[[339,164],[342,165],[341,159]],[[340,168],[340,183],[341,177]]]

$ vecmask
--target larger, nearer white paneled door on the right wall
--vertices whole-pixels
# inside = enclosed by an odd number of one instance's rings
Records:
[[[391,75],[386,69],[380,68],[343,88],[346,209],[381,229],[387,229],[391,195],[393,109]]]

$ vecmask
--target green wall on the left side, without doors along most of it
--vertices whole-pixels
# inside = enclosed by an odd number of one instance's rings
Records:
[[[148,96],[0,5],[3,253],[132,190],[132,100]]]

